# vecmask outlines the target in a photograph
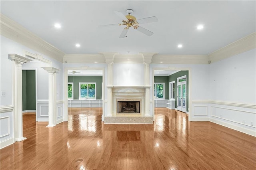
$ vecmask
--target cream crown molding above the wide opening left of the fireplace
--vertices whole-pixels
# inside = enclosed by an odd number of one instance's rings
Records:
[[[63,63],[106,63],[103,54],[65,54]]]

